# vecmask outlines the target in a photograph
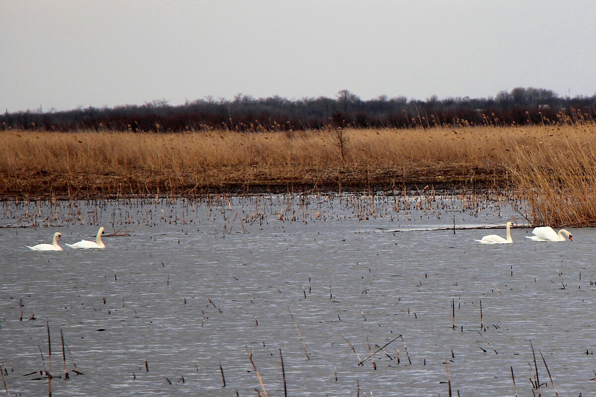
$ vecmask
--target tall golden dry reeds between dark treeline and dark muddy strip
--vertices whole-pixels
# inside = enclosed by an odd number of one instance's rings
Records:
[[[582,127],[581,131],[589,127]],[[430,167],[467,174],[470,167],[502,170],[507,150],[536,146],[548,139],[580,132],[576,127],[409,130],[346,130],[344,158],[336,130],[235,133],[35,133],[4,132],[0,142],[0,172],[14,175],[55,173],[79,176],[124,173],[186,177],[208,173],[214,182],[242,182],[257,168],[268,176],[296,177],[362,170],[399,170],[398,176]],[[505,155],[505,157],[508,157]],[[231,173],[234,176],[231,176]]]

